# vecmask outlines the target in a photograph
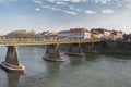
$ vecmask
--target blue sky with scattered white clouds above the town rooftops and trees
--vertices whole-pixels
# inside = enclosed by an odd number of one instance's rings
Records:
[[[0,35],[75,27],[131,33],[131,0],[0,0]]]

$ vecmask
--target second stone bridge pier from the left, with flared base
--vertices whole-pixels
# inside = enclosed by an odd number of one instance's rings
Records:
[[[59,45],[48,45],[46,53],[43,58],[46,61],[52,62],[63,62],[64,60],[60,58]]]

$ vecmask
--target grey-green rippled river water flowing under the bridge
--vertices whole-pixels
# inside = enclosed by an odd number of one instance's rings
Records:
[[[130,59],[100,54],[69,57],[60,51],[66,62],[56,63],[41,59],[45,50],[20,47],[25,74],[5,73],[0,69],[0,87],[131,87]],[[4,61],[5,52],[7,48],[0,47],[0,62]]]

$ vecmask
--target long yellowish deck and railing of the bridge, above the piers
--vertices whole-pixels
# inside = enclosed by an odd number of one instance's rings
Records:
[[[98,42],[100,39],[0,39],[0,45],[49,45],[49,44],[81,44],[81,42]]]

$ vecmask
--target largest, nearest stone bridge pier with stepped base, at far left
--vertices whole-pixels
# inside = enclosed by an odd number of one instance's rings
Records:
[[[25,66],[20,63],[16,46],[8,46],[5,61],[3,61],[0,66],[7,72],[24,73]]]

